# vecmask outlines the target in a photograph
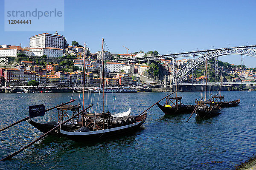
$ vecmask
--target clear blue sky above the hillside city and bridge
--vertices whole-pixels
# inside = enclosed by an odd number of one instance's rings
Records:
[[[22,2],[22,0],[21,0]],[[65,0],[64,31],[71,45],[84,42],[92,53],[104,37],[111,53],[157,50],[181,52],[256,44],[255,0]],[[4,0],[0,0],[4,15]],[[0,17],[0,44],[28,46],[29,37],[42,31],[4,31]],[[50,28],[50,26],[49,26]],[[54,33],[45,30],[44,32]],[[240,64],[240,56],[221,57]],[[244,57],[247,67],[256,58]]]

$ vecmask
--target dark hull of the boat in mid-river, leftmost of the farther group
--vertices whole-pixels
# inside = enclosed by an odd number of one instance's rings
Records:
[[[163,111],[165,114],[183,114],[183,113],[192,113],[195,109],[194,105],[182,105],[180,108],[167,108],[163,105],[157,103],[157,106]]]

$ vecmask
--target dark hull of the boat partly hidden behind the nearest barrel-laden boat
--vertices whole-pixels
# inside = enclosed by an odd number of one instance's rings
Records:
[[[43,133],[47,133],[48,131],[52,130],[54,127],[58,126],[58,124],[37,123],[32,121],[31,119],[29,119],[28,122]],[[73,125],[67,125],[67,124],[61,125],[61,129],[63,130],[73,130],[77,128],[78,128],[77,126],[73,126]],[[57,132],[52,132],[50,134],[57,134]]]

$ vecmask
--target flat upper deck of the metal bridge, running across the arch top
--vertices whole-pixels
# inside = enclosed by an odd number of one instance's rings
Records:
[[[213,51],[231,50],[233,48],[244,48],[244,49],[256,50],[256,45],[245,45],[245,46],[229,47],[229,48],[217,48],[217,49],[209,49],[209,50],[201,50],[201,51],[175,53],[175,54],[164,54],[164,55],[150,56],[150,57],[136,57],[136,58],[131,58],[131,59],[119,59],[119,60],[113,60],[113,62],[129,63],[129,62],[141,62],[141,61],[150,61],[150,60],[159,60],[159,59],[172,59],[172,58],[179,58],[179,57],[201,56],[201,55],[213,52]]]

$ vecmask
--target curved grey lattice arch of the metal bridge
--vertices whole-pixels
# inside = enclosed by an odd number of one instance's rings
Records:
[[[193,71],[195,68],[201,65],[201,63],[205,62],[205,60],[209,60],[209,59],[224,56],[224,55],[232,55],[232,54],[256,57],[256,50],[249,49],[249,48],[225,48],[225,49],[209,52],[207,54],[204,54],[201,57],[198,57],[197,59],[192,60],[192,62],[189,62],[187,65],[181,68],[180,71],[178,71],[177,73],[178,74],[177,81],[182,82],[183,77],[186,77],[189,73],[191,73],[191,71]],[[174,74],[174,77],[176,77],[176,73]],[[174,83],[176,83],[176,78],[174,79]]]

